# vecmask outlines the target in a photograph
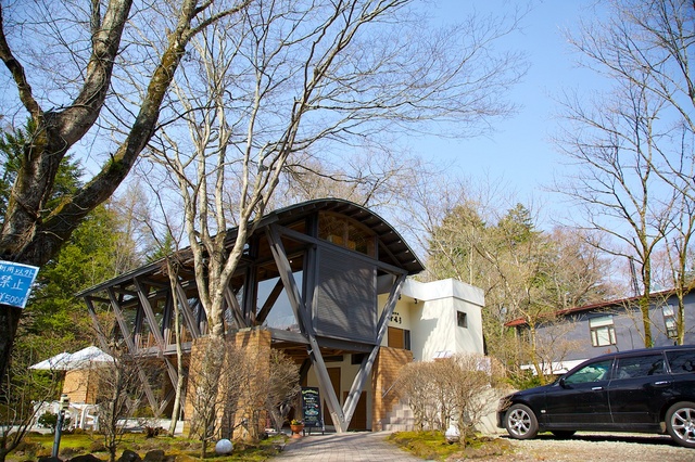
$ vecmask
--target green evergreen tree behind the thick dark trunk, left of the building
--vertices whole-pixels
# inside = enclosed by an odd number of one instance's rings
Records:
[[[23,146],[31,142],[35,132],[36,124],[28,119],[24,129],[0,136],[2,214],[22,166]],[[63,157],[48,209],[54,208],[81,187],[80,175],[79,164],[70,155]],[[24,310],[20,326],[23,337],[17,344],[17,355],[43,359],[93,343],[87,308],[75,294],[139,264],[130,236],[122,231],[125,229],[122,221],[115,207],[100,205],[75,230],[59,255],[41,268]]]

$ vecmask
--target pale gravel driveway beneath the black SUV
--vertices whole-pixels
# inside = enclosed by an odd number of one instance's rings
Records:
[[[543,434],[509,442],[514,454],[478,461],[695,462],[695,449],[677,446],[660,435],[578,433],[570,439],[558,439]]]

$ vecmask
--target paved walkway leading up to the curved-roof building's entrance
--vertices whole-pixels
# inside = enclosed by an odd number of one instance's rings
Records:
[[[313,434],[291,440],[274,461],[303,462],[422,462],[386,441],[388,432]]]

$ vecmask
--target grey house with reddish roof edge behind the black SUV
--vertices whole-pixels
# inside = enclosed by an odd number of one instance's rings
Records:
[[[554,351],[545,370],[564,373],[580,362],[606,352],[644,348],[640,297],[621,298],[556,312],[551,322],[536,325],[541,345]],[[695,344],[695,292],[684,296],[684,344]],[[653,346],[673,345],[677,338],[678,297],[673,291],[653,293],[649,320]],[[505,324],[522,338],[529,326],[523,319]]]

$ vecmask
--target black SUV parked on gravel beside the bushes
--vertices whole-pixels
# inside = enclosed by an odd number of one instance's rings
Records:
[[[695,448],[695,345],[599,356],[552,385],[500,400],[497,426],[513,438],[549,431],[666,433]]]

